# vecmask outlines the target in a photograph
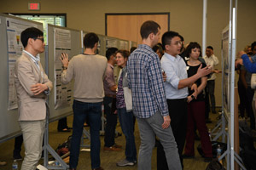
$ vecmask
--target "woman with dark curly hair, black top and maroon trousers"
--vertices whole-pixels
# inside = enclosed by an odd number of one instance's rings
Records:
[[[192,77],[196,74],[196,71],[202,65],[202,68],[206,67],[206,64],[201,63],[199,57],[201,56],[201,46],[197,42],[190,42],[185,51],[186,57],[189,60],[186,62],[188,77]],[[212,143],[209,138],[207,125],[205,121],[205,96],[203,93],[204,88],[207,86],[207,76],[201,77],[196,82],[197,85],[197,97],[193,95],[194,91],[189,89],[188,96],[188,126],[186,134],[186,144],[184,149],[183,158],[195,157],[195,130],[196,125],[198,132],[201,136],[201,148],[205,157],[205,161],[212,161]]]

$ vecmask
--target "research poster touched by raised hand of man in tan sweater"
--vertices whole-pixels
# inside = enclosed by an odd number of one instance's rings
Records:
[[[70,59],[71,52],[71,31],[55,28],[54,29],[54,49],[55,49],[55,109],[71,104],[72,83],[64,85],[61,83],[61,53],[68,54]]]

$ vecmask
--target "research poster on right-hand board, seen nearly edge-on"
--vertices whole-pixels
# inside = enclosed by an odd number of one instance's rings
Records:
[[[231,80],[231,63],[230,63],[230,29],[229,26],[224,28],[222,32],[222,50],[224,59],[224,80],[223,80],[223,91],[224,91],[224,109],[225,114],[230,114],[230,80]]]

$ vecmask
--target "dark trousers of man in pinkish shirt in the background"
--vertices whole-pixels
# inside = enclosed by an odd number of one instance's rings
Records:
[[[111,97],[105,97],[103,100],[104,112],[106,114],[107,119],[104,136],[106,147],[111,147],[114,145],[115,127],[117,124],[117,114],[113,114],[112,102],[113,98]]]

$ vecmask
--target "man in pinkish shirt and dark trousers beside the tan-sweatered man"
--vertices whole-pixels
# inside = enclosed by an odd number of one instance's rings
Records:
[[[122,147],[119,144],[115,144],[115,127],[117,124],[117,114],[114,113],[116,110],[116,88],[117,85],[114,82],[113,77],[113,65],[116,64],[115,54],[118,48],[108,48],[106,52],[106,57],[108,59],[108,68],[106,72],[106,77],[104,79],[104,92],[105,97],[103,99],[104,104],[104,112],[106,115],[106,128],[105,128],[105,136],[104,136],[104,150],[113,150],[119,151]]]

